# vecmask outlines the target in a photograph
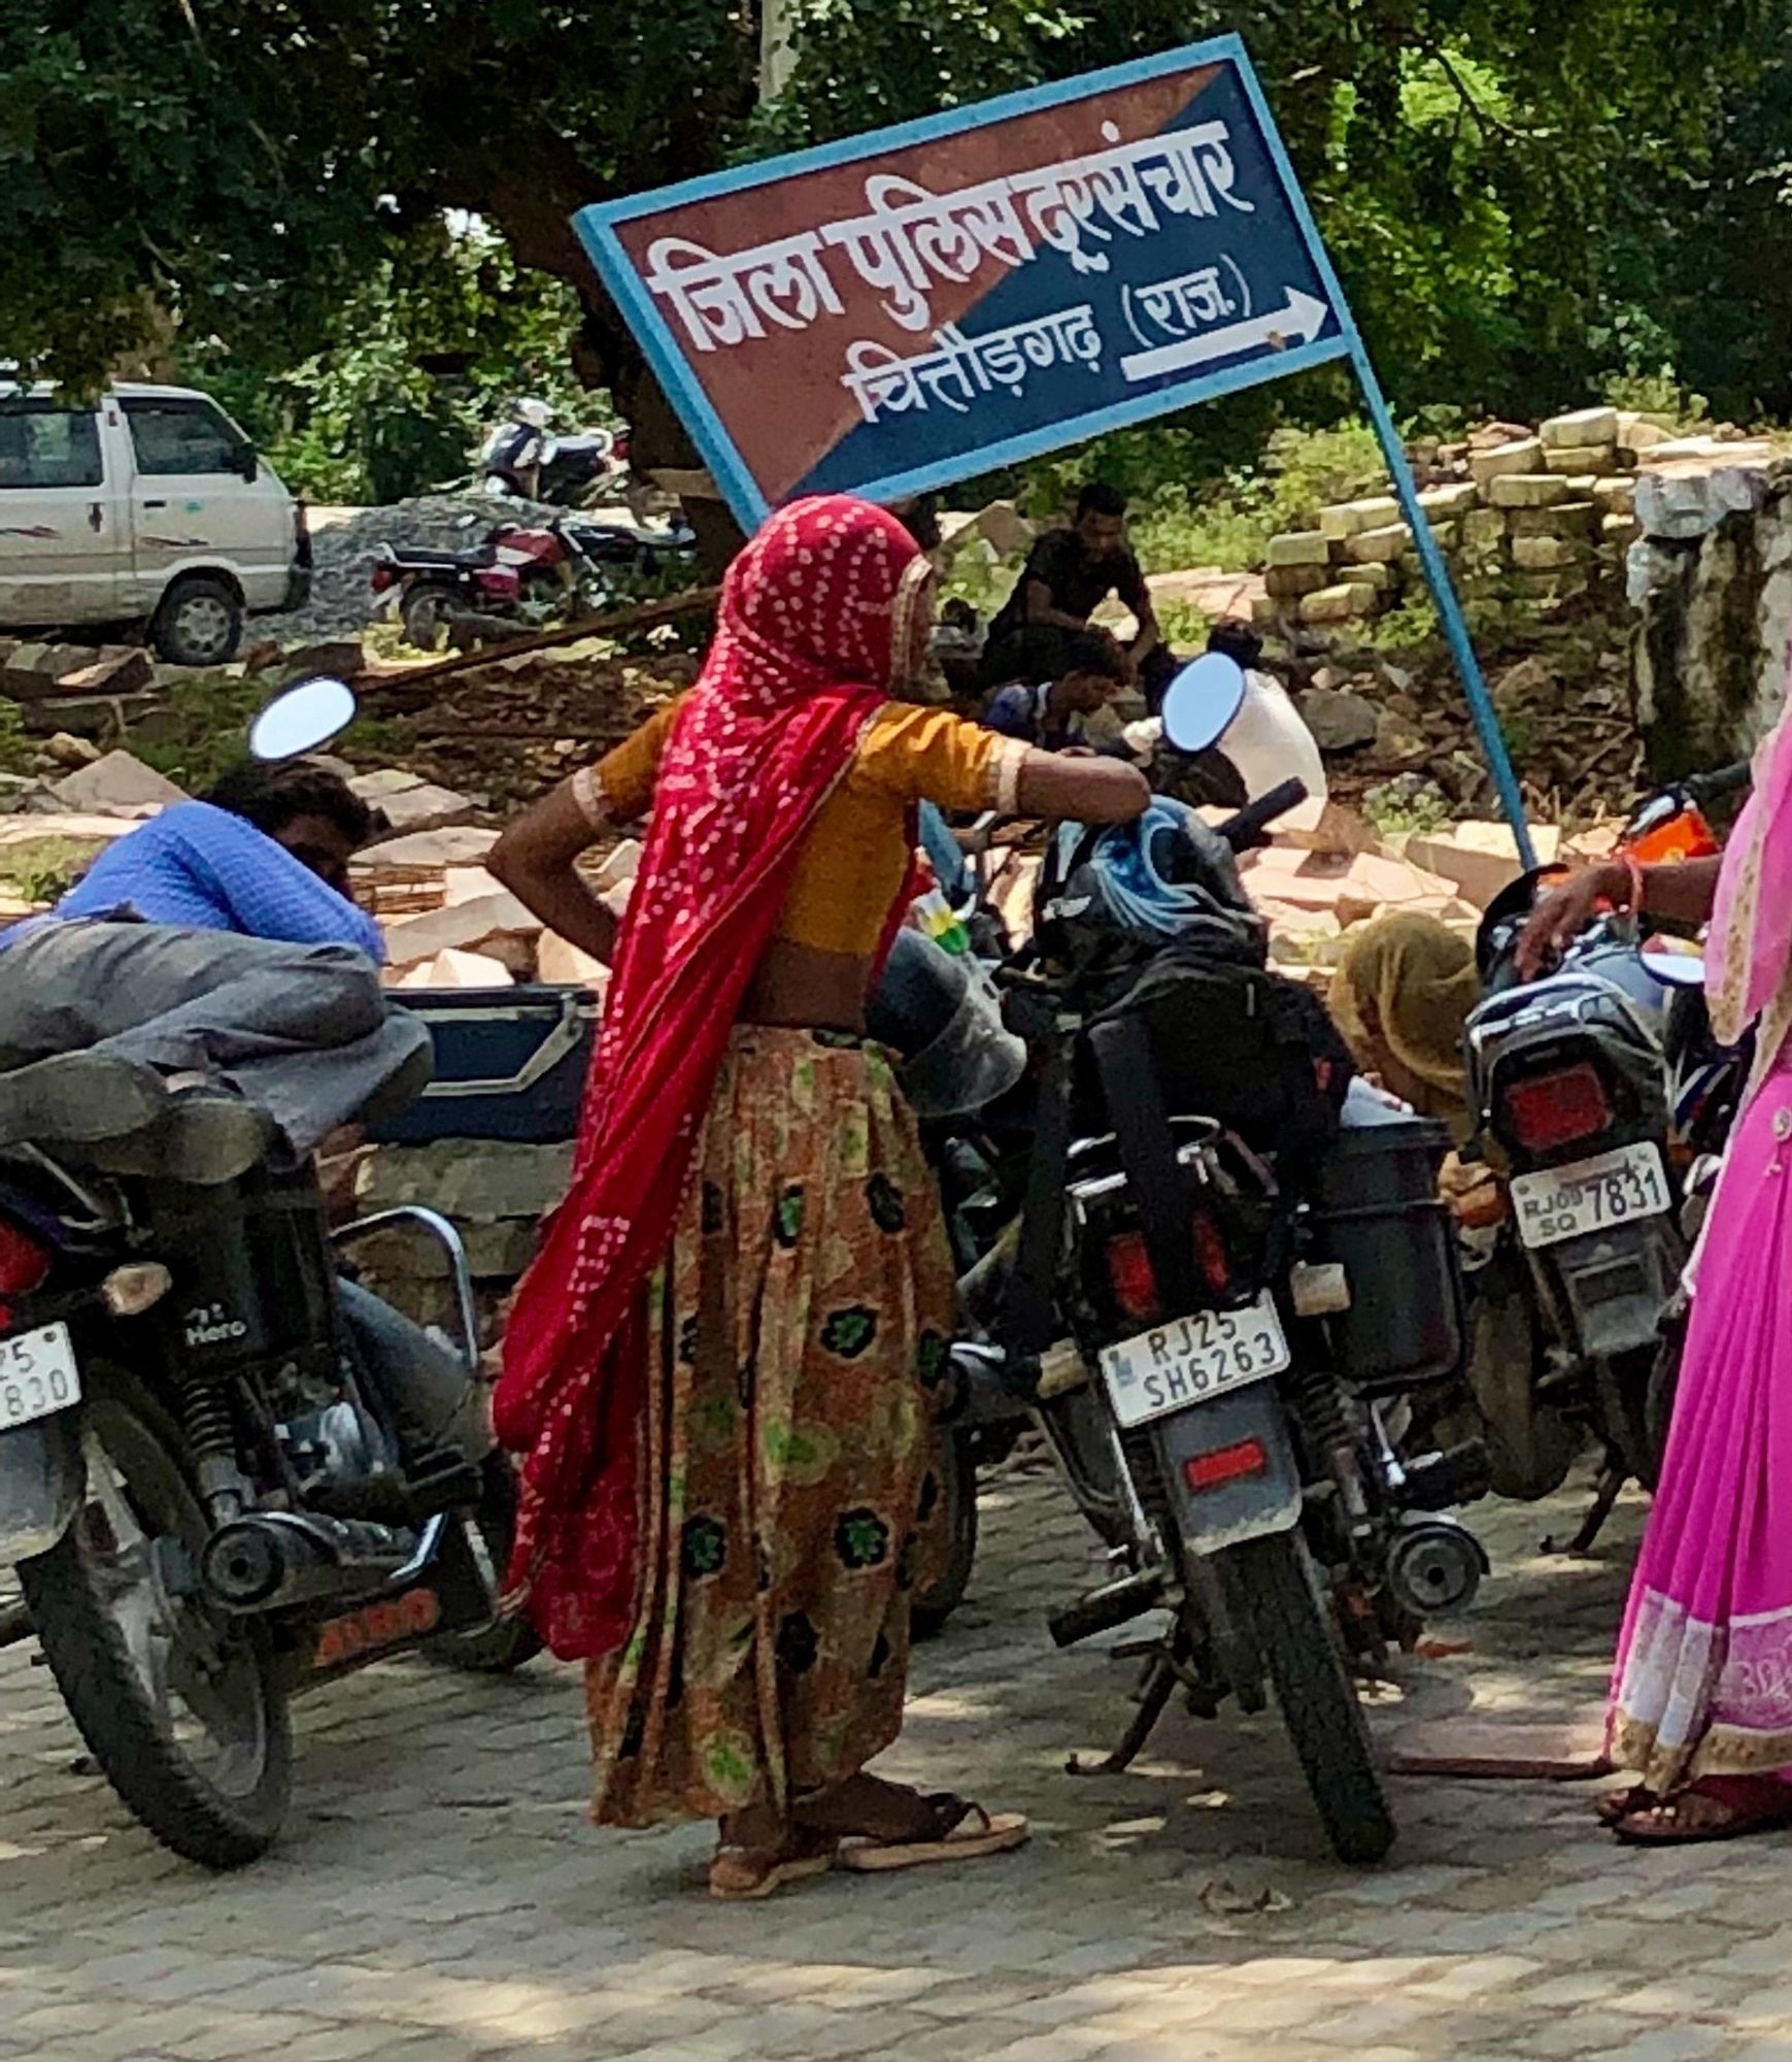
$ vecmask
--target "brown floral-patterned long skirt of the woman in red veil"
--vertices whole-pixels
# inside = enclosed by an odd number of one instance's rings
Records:
[[[634,1627],[585,1676],[599,1823],[785,1808],[896,1738],[950,1322],[888,1056],[739,1027],[649,1289]]]

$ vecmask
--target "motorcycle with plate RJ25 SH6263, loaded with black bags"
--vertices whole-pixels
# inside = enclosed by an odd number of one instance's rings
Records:
[[[1199,664],[1211,689],[1215,662]],[[1219,683],[1228,693],[1226,720],[1238,680]],[[1224,722],[1172,687],[1166,726],[1193,753]],[[1234,852],[1300,800],[1287,784],[1217,837],[1178,819],[1215,938],[1256,926]],[[987,1266],[964,1285],[983,1326],[954,1346],[956,1406],[970,1423],[1024,1406],[1108,1546],[1112,1579],[1050,1619],[1059,1645],[1168,1617],[1121,1650],[1143,1664],[1139,1711],[1100,1767],[1125,1769],[1178,1689],[1213,1716],[1226,1695],[1261,1711],[1273,1687],[1335,1852],[1374,1862],[1394,1825],[1351,1662],[1467,1604],[1487,1565],[1448,1516],[1485,1489],[1479,1450],[1405,1452],[1409,1394],[1462,1367],[1436,1192],[1446,1136],[1357,1083],[1324,1138],[1298,1130],[1294,1109],[1248,1138],[1240,1107],[1221,1105],[1261,1093],[1267,1068],[1228,1066],[1228,1091],[1205,1062],[1279,1021],[1318,1043],[1273,1041],[1277,1064],[1298,1068],[1289,1052],[1304,1052],[1310,1072],[1322,1033],[1291,1000],[1308,998],[1259,961],[1240,967],[1246,1006],[1228,1019],[1207,1006],[1217,990],[1195,1017],[1178,1010],[1174,979],[1147,1004],[1172,961],[1199,986],[1201,955],[1178,946],[1116,1000],[1094,961],[1055,957],[1055,934],[1092,901],[1073,858],[1042,885],[1042,963],[1003,975],[1044,1074],[1026,1151],[999,1157],[970,1210],[993,1225],[1018,1198],[1020,1215],[985,1235]]]

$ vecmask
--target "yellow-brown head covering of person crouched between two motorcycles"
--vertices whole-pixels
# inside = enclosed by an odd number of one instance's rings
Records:
[[[1331,986],[1331,1012],[1357,1066],[1374,1072],[1392,1054],[1411,1080],[1388,1087],[1456,1126],[1469,1118],[1462,1025],[1479,1000],[1475,949],[1434,916],[1382,916],[1351,932]]]

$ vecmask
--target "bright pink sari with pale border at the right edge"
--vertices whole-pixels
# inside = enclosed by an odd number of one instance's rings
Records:
[[[1611,1757],[1656,1796],[1792,1775],[1792,716],[1755,757],[1705,982],[1718,1035],[1759,1041],[1613,1672]]]

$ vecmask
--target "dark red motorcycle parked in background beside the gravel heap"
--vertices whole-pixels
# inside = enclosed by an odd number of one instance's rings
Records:
[[[688,561],[690,548],[684,528],[661,534],[556,516],[540,528],[498,524],[468,551],[385,544],[371,584],[408,641],[433,652],[453,617],[540,629],[601,614],[628,577],[655,577]]]

